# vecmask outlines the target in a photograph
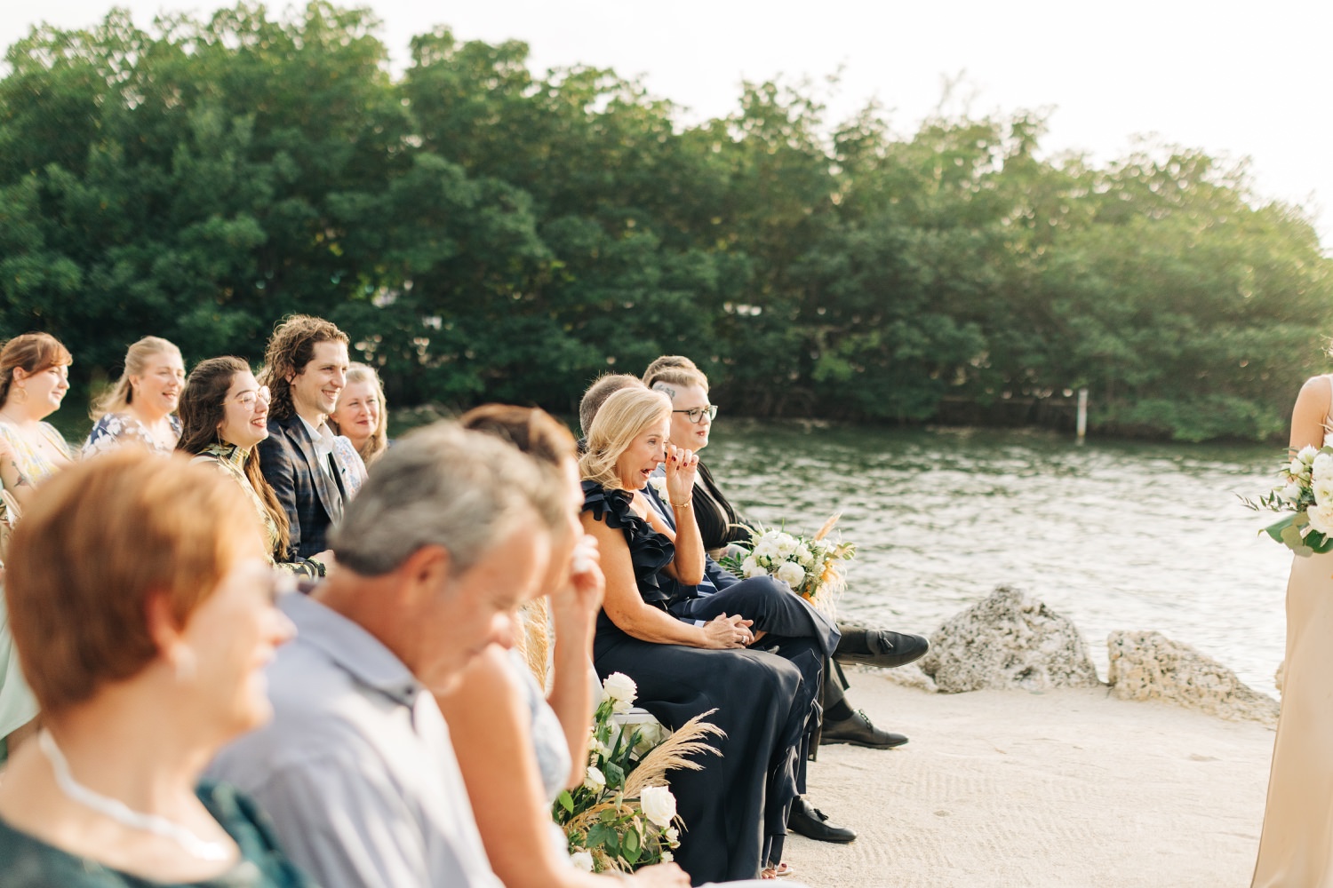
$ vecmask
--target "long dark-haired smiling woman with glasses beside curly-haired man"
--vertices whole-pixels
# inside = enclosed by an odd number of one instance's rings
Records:
[[[269,393],[240,358],[209,358],[185,379],[180,395],[177,450],[227,473],[249,497],[264,525],[269,558],[280,568],[316,579],[333,563],[333,553],[300,558],[291,547],[287,513],[259,467],[255,445],[268,438]]]

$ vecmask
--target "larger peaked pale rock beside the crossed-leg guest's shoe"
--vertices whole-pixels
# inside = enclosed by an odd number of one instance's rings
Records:
[[[1078,628],[1010,586],[945,622],[917,664],[948,694],[1101,684]]]

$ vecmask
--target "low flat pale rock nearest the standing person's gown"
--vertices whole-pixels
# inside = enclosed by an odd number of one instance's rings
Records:
[[[1108,679],[1122,700],[1165,700],[1233,722],[1277,724],[1278,704],[1217,660],[1161,632],[1112,632]]]

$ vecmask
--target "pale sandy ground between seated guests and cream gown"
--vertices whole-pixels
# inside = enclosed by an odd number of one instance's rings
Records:
[[[1105,690],[928,694],[874,671],[848,699],[897,750],[825,746],[809,797],[860,836],[788,837],[812,888],[1245,888],[1273,731]]]

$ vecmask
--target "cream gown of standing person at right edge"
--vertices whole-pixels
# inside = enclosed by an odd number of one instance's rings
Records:
[[[1293,556],[1286,667],[1253,888],[1333,888],[1333,553]]]

